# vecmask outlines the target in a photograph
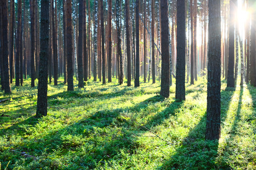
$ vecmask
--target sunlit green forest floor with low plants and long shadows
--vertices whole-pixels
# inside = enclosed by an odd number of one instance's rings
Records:
[[[240,82],[240,81],[238,81]],[[36,118],[37,87],[0,92],[2,169],[256,169],[256,88],[221,87],[221,139],[205,142],[207,80],[186,84],[186,101],[160,83],[67,92],[48,85],[48,116]],[[77,84],[77,82],[75,82]],[[26,154],[22,153],[26,152]],[[8,164],[8,165],[7,165]],[[0,168],[0,169],[1,169]]]

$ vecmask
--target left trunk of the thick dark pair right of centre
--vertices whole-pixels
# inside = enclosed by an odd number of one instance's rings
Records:
[[[170,76],[169,76],[169,22],[168,22],[168,3],[161,0],[161,47],[162,47],[162,70],[161,70],[161,89],[160,95],[169,97],[170,95]]]

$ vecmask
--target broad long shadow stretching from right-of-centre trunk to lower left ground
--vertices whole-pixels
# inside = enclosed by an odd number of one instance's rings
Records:
[[[98,163],[104,164],[116,157],[121,150],[126,150],[133,154],[138,144],[134,142],[133,130],[128,130],[131,122],[120,116],[120,113],[126,111],[136,111],[138,108],[144,109],[148,105],[162,101],[159,96],[150,97],[141,103],[135,104],[133,107],[122,109],[114,109],[107,111],[98,111],[89,117],[82,118],[71,125],[64,128],[57,128],[47,131],[47,133],[34,134],[35,138],[24,138],[22,145],[14,145],[11,148],[15,150],[12,154],[13,158],[19,160],[22,158],[21,152],[27,152],[31,159],[24,160],[25,164],[35,163],[35,169],[49,167],[51,169],[69,169],[72,165],[77,164],[80,168],[93,169]],[[54,114],[51,115],[54,117]],[[35,131],[27,131],[22,128],[23,125],[37,126],[36,124],[44,124],[40,121],[42,118],[35,119],[30,117],[23,122],[19,122],[8,128],[14,131],[13,135],[26,134],[30,136]],[[54,118],[53,118],[54,120]],[[54,121],[53,121],[54,122]],[[51,123],[51,122],[50,122]],[[21,128],[20,128],[21,127]],[[47,128],[45,124],[44,127]],[[6,133],[6,130],[0,133]],[[7,134],[7,133],[6,133]],[[10,139],[8,139],[10,140]],[[11,150],[9,152],[12,152]],[[56,153],[57,152],[57,153]],[[74,158],[67,159],[67,162],[59,163],[49,159],[51,155],[73,155]],[[116,158],[115,158],[116,159]],[[1,160],[3,167],[6,167],[10,158]],[[65,161],[65,160],[64,160]],[[72,162],[72,164],[70,164]],[[9,164],[9,168],[14,168],[15,162]],[[65,166],[63,167],[63,164]]]

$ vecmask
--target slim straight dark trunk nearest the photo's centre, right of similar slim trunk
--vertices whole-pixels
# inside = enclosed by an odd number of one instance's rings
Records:
[[[135,77],[134,86],[139,87],[139,0],[136,0],[136,69],[135,70],[136,70],[136,77]]]

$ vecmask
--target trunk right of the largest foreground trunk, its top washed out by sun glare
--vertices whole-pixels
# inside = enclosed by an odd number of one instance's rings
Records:
[[[229,61],[227,87],[234,87],[234,16],[237,0],[230,0],[230,25],[229,25]]]

